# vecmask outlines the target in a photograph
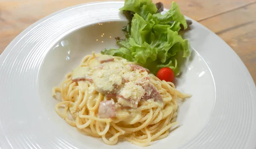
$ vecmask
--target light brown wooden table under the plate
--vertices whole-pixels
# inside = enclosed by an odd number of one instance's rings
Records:
[[[26,27],[60,9],[99,0],[0,0],[0,54]],[[170,8],[172,0],[161,1]],[[181,12],[226,41],[256,82],[256,0],[175,0]],[[228,59],[228,57],[227,57]]]

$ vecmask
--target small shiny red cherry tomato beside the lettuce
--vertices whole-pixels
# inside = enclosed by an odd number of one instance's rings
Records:
[[[172,71],[172,69],[168,67],[164,67],[157,72],[157,77],[160,80],[165,80],[166,82],[172,82],[174,80],[174,72]]]

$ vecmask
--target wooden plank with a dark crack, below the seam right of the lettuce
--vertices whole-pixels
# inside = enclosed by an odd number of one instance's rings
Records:
[[[256,82],[256,3],[201,21],[239,55]],[[227,57],[228,59],[228,57]]]

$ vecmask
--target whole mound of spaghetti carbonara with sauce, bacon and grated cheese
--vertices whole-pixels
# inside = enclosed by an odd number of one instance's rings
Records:
[[[177,124],[176,99],[190,97],[136,63],[94,52],[52,89],[54,97],[57,92],[58,115],[109,145],[126,140],[148,146],[166,138]]]

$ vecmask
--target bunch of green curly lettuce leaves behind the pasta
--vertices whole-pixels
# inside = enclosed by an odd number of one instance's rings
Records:
[[[116,38],[119,49],[104,49],[102,54],[123,57],[140,63],[151,73],[156,74],[163,67],[169,67],[177,75],[177,55],[190,54],[188,40],[178,32],[188,27],[177,3],[172,2],[171,9],[160,14],[163,7],[152,0],[125,0],[123,11],[129,23],[123,28],[126,39]]]

